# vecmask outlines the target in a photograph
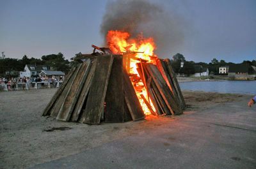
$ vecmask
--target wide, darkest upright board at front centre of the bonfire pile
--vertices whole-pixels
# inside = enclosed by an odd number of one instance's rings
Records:
[[[105,122],[124,122],[124,69],[123,56],[113,55],[114,60],[106,94]]]

